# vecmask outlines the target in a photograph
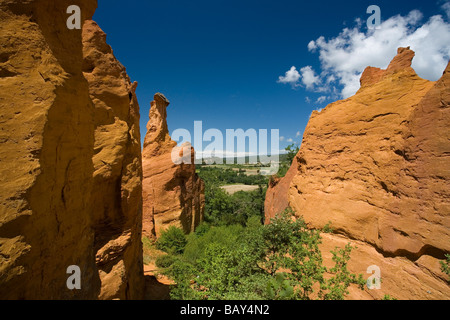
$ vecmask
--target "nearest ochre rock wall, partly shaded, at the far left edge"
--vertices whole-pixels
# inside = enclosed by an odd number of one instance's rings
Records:
[[[96,298],[93,104],[69,0],[0,1],[0,297]],[[82,20],[96,1],[81,0]],[[82,290],[68,290],[78,265]]]

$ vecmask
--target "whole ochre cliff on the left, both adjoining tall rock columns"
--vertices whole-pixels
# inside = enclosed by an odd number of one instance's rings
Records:
[[[94,23],[67,28],[73,4],[0,0],[1,299],[143,289],[134,87]],[[76,4],[91,19],[97,2]]]

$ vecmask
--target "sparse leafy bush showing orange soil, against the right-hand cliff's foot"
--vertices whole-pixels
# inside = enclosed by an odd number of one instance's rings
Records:
[[[325,300],[341,300],[348,294],[350,284],[364,288],[362,275],[357,277],[347,270],[352,247],[331,251],[335,266],[323,265],[319,249],[321,230],[309,229],[303,219],[293,219],[294,212],[289,208],[278,215],[264,230],[267,256],[265,268],[274,275],[280,269],[289,270],[286,280],[295,288],[293,298],[311,299],[313,296]],[[331,277],[325,277],[325,274]],[[315,292],[313,287],[319,285]]]

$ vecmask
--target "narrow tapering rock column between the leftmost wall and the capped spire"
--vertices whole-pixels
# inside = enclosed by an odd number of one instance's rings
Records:
[[[143,293],[139,104],[125,68],[91,20],[83,26],[83,74],[94,103],[94,249],[100,299]]]

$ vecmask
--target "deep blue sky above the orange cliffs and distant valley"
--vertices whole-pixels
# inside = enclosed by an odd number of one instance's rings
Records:
[[[150,101],[154,93],[162,92],[171,101],[167,110],[171,132],[177,128],[193,130],[196,120],[203,121],[204,129],[217,128],[224,133],[225,129],[238,128],[280,129],[280,136],[284,137],[280,148],[284,148],[290,143],[288,139],[300,142],[312,110],[354,90],[362,64],[386,67],[398,43],[414,42],[416,57],[417,50],[422,50],[423,55],[434,56],[437,52],[442,56],[437,56],[434,63],[438,69],[450,55],[450,41],[445,44],[444,38],[441,40],[444,44],[438,43],[433,34],[450,34],[448,1],[99,0],[98,3],[94,20],[108,35],[108,44],[132,81],[139,83],[142,139]],[[397,15],[400,20],[404,18],[401,21],[394,18],[391,24],[386,24],[385,33],[379,31],[379,38],[394,37],[394,31],[402,26],[406,29],[398,38],[389,39],[386,46],[386,41],[378,40],[378,45],[369,50],[371,54],[357,61],[354,57],[367,52],[370,42],[365,21],[370,16],[366,9],[371,4],[381,8],[382,22]],[[418,11],[411,14],[412,10]],[[435,15],[441,15],[441,20],[431,21],[430,17]],[[429,34],[420,38],[415,31],[424,25]],[[344,28],[354,32],[339,37]],[[353,28],[367,41],[353,41],[352,37],[358,38]],[[320,37],[323,40],[317,42]],[[339,50],[342,51],[340,40],[348,41],[344,50],[350,48],[346,56],[340,55],[341,59],[355,61],[355,65],[345,70],[342,62],[336,60]],[[430,70],[426,57],[422,60],[418,68]],[[290,83],[278,81],[292,67],[300,78]],[[301,70],[313,70],[312,83],[306,85],[302,81],[301,76],[306,74]],[[437,73],[426,76],[436,78]],[[348,79],[350,76],[352,80]],[[336,80],[339,77],[341,81]]]

